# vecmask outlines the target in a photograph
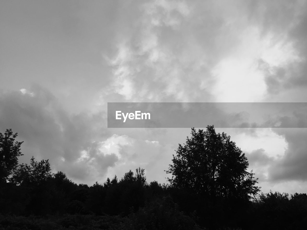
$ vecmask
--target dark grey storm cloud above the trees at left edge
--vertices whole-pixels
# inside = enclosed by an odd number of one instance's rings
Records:
[[[22,92],[2,93],[0,98],[1,132],[12,128],[18,132],[18,139],[25,141],[22,162],[29,163],[31,155],[49,159],[53,170],[65,171],[77,180],[93,173],[103,176],[114,166],[116,155],[98,150],[97,142],[109,134],[102,128],[103,113],[69,116],[48,90],[35,86]],[[82,151],[87,153],[86,158],[82,158]]]

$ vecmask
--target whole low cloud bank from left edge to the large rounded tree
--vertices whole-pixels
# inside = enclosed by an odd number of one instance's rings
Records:
[[[107,129],[104,112],[69,114],[48,90],[33,86],[26,92],[34,96],[11,91],[0,97],[1,132],[12,128],[25,141],[20,163],[29,163],[32,155],[49,159],[52,172],[64,171],[77,183],[102,183],[137,167],[146,169],[149,181],[165,181],[163,170],[174,150],[172,138],[165,137],[172,132]]]

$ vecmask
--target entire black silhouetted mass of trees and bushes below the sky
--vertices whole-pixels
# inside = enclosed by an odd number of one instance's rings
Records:
[[[166,171],[147,182],[137,168],[122,178],[77,185],[48,160],[19,164],[17,133],[0,133],[2,229],[305,229],[307,195],[259,194],[244,153],[225,133],[192,128]]]

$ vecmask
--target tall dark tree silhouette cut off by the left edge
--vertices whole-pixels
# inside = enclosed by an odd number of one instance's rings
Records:
[[[6,182],[12,172],[17,168],[18,157],[23,155],[20,146],[23,143],[15,141],[17,132],[6,129],[4,135],[0,132],[0,182]]]

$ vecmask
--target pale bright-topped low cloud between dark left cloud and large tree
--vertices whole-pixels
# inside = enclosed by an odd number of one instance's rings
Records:
[[[115,166],[109,168],[108,177],[114,177],[115,174],[121,177],[130,169],[134,171],[141,167],[146,170],[149,182],[153,180],[165,182],[166,174],[163,171],[171,163],[170,153],[173,152],[173,148],[168,143],[116,134],[100,142],[100,150],[107,155],[112,152],[118,157]]]

